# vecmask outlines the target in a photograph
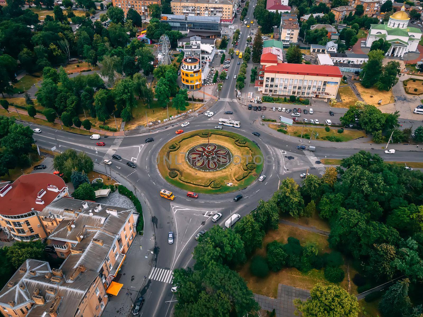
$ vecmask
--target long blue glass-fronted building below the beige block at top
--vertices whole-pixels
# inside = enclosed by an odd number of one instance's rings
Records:
[[[167,23],[172,30],[187,33],[188,30],[216,30],[220,31],[219,16],[192,16],[162,14],[160,22]]]

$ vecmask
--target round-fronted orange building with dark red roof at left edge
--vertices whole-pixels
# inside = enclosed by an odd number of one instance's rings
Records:
[[[13,183],[0,184],[0,225],[17,241],[46,238],[39,213],[50,203],[69,196],[65,182],[51,173],[21,175]]]

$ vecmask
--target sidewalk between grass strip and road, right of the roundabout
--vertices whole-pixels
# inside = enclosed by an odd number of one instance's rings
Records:
[[[275,130],[273,130],[272,128],[269,128],[269,126],[264,123],[264,126],[260,125],[260,121],[259,120],[255,120],[254,121],[254,125],[259,128],[261,131],[265,131],[269,134],[272,134],[274,137],[277,137],[279,139],[284,139],[284,140],[291,140],[291,142],[293,143],[300,143],[300,138],[299,137],[294,137],[294,136],[287,136],[286,134],[277,132]],[[307,145],[309,143],[308,139],[302,139],[303,140],[303,144]],[[311,145],[314,146],[319,146],[321,148],[334,148],[334,144],[336,144],[336,148],[349,148],[349,149],[363,149],[363,150],[374,150],[374,149],[382,149],[382,147],[384,147],[386,145],[385,144],[380,144],[380,143],[364,143],[363,141],[371,141],[370,137],[366,137],[366,138],[360,138],[360,139],[356,139],[356,140],[351,140],[348,142],[330,142],[330,141],[319,141],[319,140],[313,140],[313,143]],[[416,148],[417,144],[395,144],[395,150],[408,150],[411,152],[422,152],[422,150],[420,150],[420,146],[418,148]]]

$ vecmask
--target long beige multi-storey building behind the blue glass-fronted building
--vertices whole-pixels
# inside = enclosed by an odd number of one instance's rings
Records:
[[[186,16],[218,16],[222,23],[232,23],[239,0],[172,0],[173,14]]]

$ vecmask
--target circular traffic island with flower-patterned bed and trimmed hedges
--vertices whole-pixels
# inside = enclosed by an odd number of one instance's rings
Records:
[[[260,175],[263,163],[263,153],[253,141],[222,130],[180,134],[157,156],[159,172],[168,183],[202,194],[244,189]]]

